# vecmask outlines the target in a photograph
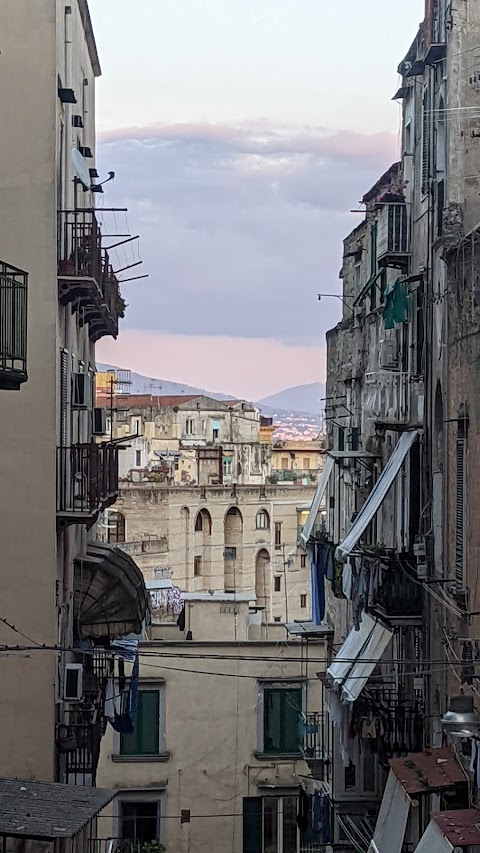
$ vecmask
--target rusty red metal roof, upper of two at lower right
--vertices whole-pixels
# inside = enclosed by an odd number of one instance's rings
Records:
[[[453,749],[449,746],[409,752],[403,758],[391,758],[390,767],[407,794],[425,794],[466,782]]]

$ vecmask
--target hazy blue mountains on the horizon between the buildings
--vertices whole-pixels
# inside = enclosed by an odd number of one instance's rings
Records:
[[[115,370],[113,364],[97,364],[98,370]],[[310,391],[310,397],[306,389],[317,389]],[[152,394],[155,396],[173,396],[182,394],[206,394],[214,400],[231,400],[232,394],[224,394],[218,391],[207,391],[205,388],[196,388],[193,385],[185,385],[181,382],[170,382],[167,379],[153,379],[142,376],[140,373],[132,373],[132,394]],[[296,392],[299,392],[298,395]],[[252,401],[260,409],[262,415],[273,418],[278,425],[275,433],[276,438],[315,438],[322,429],[320,418],[320,404],[316,402],[323,396],[323,386],[318,382],[312,385],[299,385],[297,388],[288,388],[265,397],[258,402]],[[308,408],[309,399],[313,408]],[[297,400],[298,406],[291,405],[291,401]],[[250,401],[249,401],[250,402]]]

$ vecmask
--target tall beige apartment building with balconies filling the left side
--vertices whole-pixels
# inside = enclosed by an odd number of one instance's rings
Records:
[[[94,209],[100,63],[86,0],[3,4],[0,29],[0,230],[2,260],[15,267],[0,270],[0,385],[9,373],[18,389],[1,392],[0,640],[29,647],[1,659],[0,776],[91,786],[108,667],[101,649],[141,631],[148,606],[134,561],[93,533],[118,491],[117,446],[94,437],[95,343],[117,334],[124,311]],[[20,269],[29,273],[27,315]],[[4,323],[13,286],[17,341],[5,337],[16,328]]]

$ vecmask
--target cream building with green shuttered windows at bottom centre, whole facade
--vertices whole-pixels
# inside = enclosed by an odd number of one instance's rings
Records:
[[[119,793],[101,835],[128,844],[135,828],[142,842],[195,853],[324,849],[330,803],[305,782],[305,755],[328,749],[325,637],[308,651],[283,626],[254,639],[241,595],[196,601],[190,616],[193,639],[164,623],[140,647],[139,727],[102,744],[99,781]]]

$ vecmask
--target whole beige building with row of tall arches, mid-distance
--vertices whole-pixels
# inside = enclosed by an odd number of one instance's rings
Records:
[[[267,623],[303,620],[310,566],[298,535],[314,491],[291,484],[179,489],[122,482],[97,535],[121,542],[147,580],[168,569],[186,592],[249,593]]]

